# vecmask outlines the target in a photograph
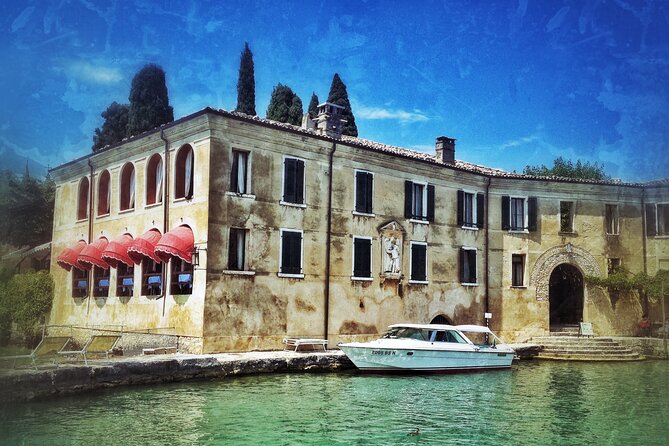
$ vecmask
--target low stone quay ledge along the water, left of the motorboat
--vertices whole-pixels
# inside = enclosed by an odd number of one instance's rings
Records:
[[[0,402],[29,401],[95,389],[228,376],[330,372],[354,368],[341,351],[149,355],[61,364],[46,369],[2,370]]]

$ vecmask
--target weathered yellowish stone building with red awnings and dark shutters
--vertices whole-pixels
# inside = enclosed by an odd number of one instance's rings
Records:
[[[529,177],[206,108],[52,170],[50,323],[171,330],[194,352],[330,345],[396,322],[522,341],[633,334],[585,275],[669,268],[669,183]],[[60,267],[58,266],[60,265]]]

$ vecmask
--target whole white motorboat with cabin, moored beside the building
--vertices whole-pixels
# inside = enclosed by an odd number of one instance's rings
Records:
[[[511,367],[514,350],[480,325],[395,324],[380,339],[338,347],[363,371],[457,372]]]

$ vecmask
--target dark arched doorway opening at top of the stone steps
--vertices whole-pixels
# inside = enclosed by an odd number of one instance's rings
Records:
[[[548,281],[550,329],[583,320],[583,273],[569,263],[553,269]]]

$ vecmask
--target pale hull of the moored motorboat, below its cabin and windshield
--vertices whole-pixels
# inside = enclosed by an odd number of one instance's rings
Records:
[[[453,373],[511,367],[514,352],[480,350],[429,350],[341,344],[346,356],[365,372]]]

